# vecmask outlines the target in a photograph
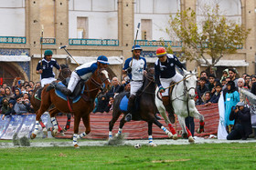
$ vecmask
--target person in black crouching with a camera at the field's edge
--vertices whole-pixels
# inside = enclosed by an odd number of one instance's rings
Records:
[[[232,107],[229,120],[235,120],[235,124],[227,136],[227,140],[246,140],[251,135],[250,109],[245,107],[243,102]]]

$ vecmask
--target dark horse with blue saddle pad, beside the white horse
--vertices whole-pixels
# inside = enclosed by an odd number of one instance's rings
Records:
[[[158,122],[155,118],[156,107],[155,107],[155,80],[154,80],[154,69],[149,70],[147,74],[144,75],[144,85],[142,91],[137,94],[139,99],[139,108],[135,114],[133,114],[133,120],[144,120],[148,124],[148,139],[149,145],[156,146],[153,143],[152,137],[152,125],[155,124],[161,128],[166,135],[172,138],[172,133],[169,132],[164,125]],[[112,110],[112,120],[109,123],[109,140],[112,140],[112,128],[114,123],[117,121],[119,116],[124,113],[120,108],[120,103],[123,99],[123,95],[116,95],[113,103]],[[122,135],[123,125],[125,124],[124,117],[121,119],[118,135]]]

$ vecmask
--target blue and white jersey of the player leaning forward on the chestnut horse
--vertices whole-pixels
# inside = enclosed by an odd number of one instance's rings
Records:
[[[86,63],[78,66],[75,72],[80,76],[81,79],[88,80],[97,68],[98,68],[97,63],[90,62],[90,63]]]

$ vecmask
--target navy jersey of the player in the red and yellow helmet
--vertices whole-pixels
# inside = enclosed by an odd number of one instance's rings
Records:
[[[165,63],[161,63],[159,59],[155,61],[155,82],[158,86],[161,85],[160,78],[171,78],[176,75],[176,65],[184,68],[175,55],[166,56]]]

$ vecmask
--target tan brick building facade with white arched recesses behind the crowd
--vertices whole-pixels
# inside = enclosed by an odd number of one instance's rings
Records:
[[[155,50],[161,44],[172,45],[176,52],[181,44],[165,35],[169,15],[191,8],[197,11],[203,0],[0,0],[0,77],[11,82],[15,76],[38,81],[37,62],[41,57],[40,38],[43,28],[42,51],[50,49],[59,64],[75,69],[77,62],[93,61],[98,55],[110,57],[112,76],[121,78],[123,61],[132,56],[131,49],[138,32],[139,45],[144,49],[149,65],[155,62]],[[217,1],[218,2],[218,1]],[[219,1],[229,17],[237,17],[251,28],[246,44],[238,54],[224,56],[217,66],[219,72],[235,66],[240,74],[255,74],[255,7],[254,0]],[[225,9],[225,8],[224,8]],[[43,26],[42,26],[43,25]],[[61,45],[68,45],[70,58]],[[228,61],[228,62],[227,62]],[[233,61],[233,63],[229,62]],[[187,63],[192,70],[196,62]],[[201,65],[204,69],[204,65]],[[55,70],[56,74],[58,72]]]

